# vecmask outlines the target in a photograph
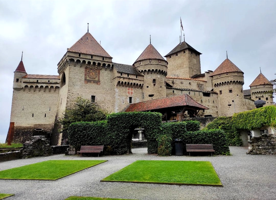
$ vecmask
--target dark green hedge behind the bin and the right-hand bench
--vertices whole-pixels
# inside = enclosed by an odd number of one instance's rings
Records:
[[[158,138],[158,155],[174,154],[174,140],[176,138],[183,140],[184,153],[186,151],[185,144],[213,144],[215,154],[229,154],[229,147],[223,130],[199,130],[200,126],[192,128],[192,124],[200,123],[198,121],[185,121],[161,124],[163,134]],[[187,128],[189,129],[187,130]],[[194,131],[189,131],[190,129]]]

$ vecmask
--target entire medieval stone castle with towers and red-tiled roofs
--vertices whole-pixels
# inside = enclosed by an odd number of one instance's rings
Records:
[[[60,145],[57,120],[78,96],[97,102],[109,112],[120,112],[130,104],[186,94],[209,108],[203,116],[232,116],[255,108],[273,85],[260,73],[243,90],[244,73],[226,58],[214,71],[201,73],[201,53],[185,40],[166,57],[150,43],[133,65],[113,63],[112,57],[86,32],[67,49],[57,64],[59,76],[27,74],[23,61],[14,71],[10,122],[14,142],[28,140],[34,132],[52,133],[52,145]],[[168,120],[177,120],[171,116]]]

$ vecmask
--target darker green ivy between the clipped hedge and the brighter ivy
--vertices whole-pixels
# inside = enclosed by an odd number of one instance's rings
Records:
[[[240,131],[236,128],[232,117],[217,117],[204,129],[221,129],[225,132],[226,143],[230,146],[241,146]]]

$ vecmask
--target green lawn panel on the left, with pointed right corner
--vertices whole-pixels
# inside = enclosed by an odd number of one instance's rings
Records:
[[[56,180],[107,160],[48,160],[0,171],[0,179]]]

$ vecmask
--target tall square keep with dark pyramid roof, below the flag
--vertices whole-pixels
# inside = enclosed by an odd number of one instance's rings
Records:
[[[183,78],[201,74],[201,53],[190,46],[185,39],[165,55],[168,64],[168,75],[177,75]]]

